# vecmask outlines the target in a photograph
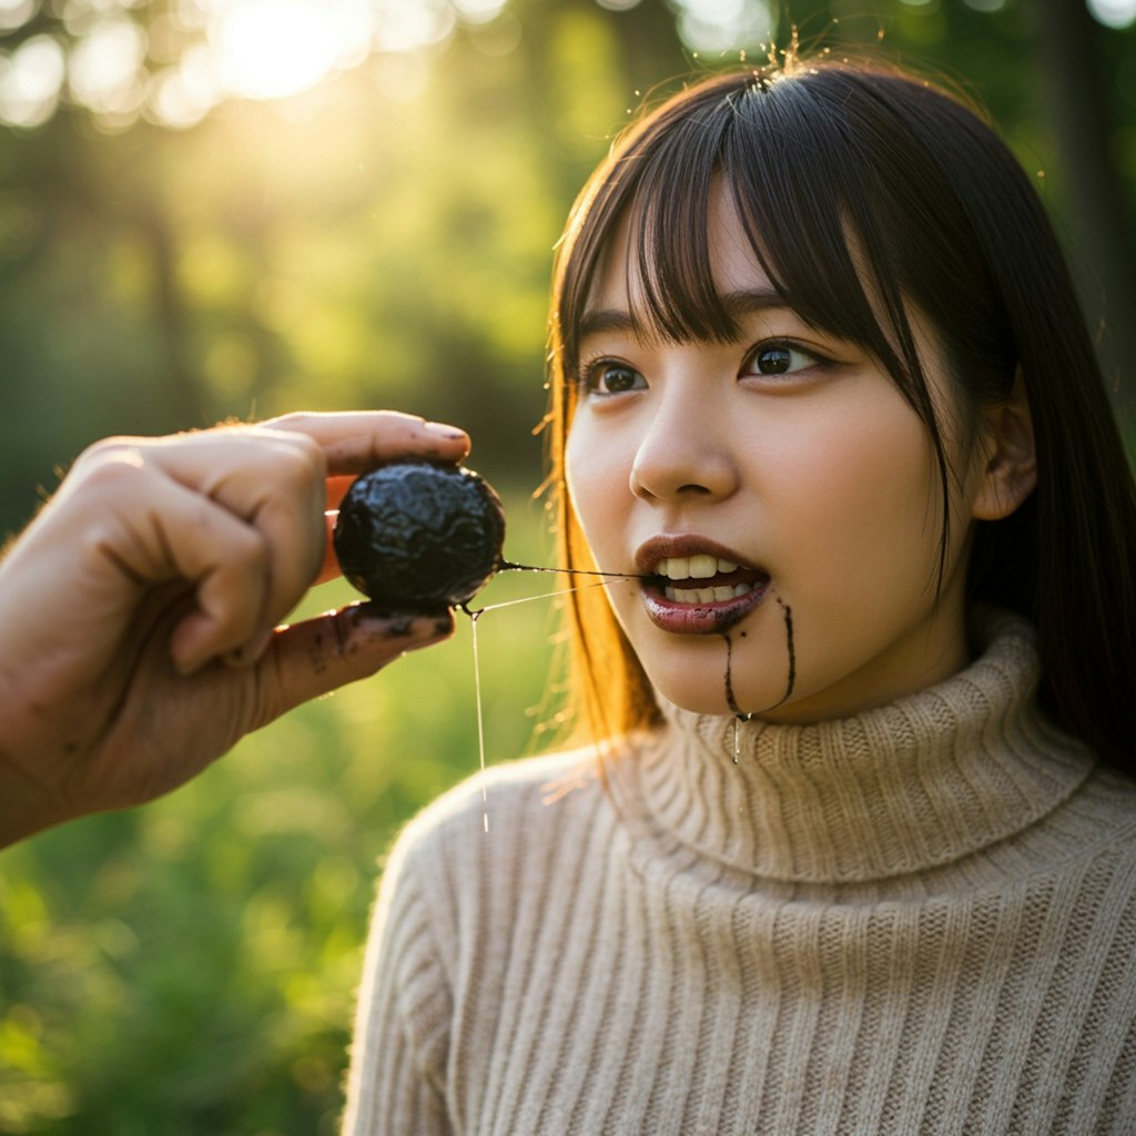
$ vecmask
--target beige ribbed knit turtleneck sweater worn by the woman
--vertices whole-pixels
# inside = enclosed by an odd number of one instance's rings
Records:
[[[809,727],[668,712],[406,830],[352,1136],[1136,1133],[1136,786],[1030,702],[1027,627]]]

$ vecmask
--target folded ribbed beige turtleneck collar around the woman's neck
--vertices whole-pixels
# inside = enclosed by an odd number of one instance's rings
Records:
[[[985,650],[964,670],[851,718],[743,722],[735,745],[734,718],[665,704],[612,787],[652,828],[763,878],[868,882],[957,861],[1052,811],[1094,763],[1037,709],[1029,625],[987,612],[978,629]]]

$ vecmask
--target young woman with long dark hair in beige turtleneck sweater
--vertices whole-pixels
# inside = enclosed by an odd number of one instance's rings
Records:
[[[876,67],[691,86],[552,378],[600,745],[400,840],[348,1131],[1131,1131],[1136,499],[1006,149]]]

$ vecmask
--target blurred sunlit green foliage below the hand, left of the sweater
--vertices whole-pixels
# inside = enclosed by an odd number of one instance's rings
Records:
[[[546,559],[541,509],[504,498],[509,554]],[[478,603],[563,586],[506,574]],[[324,585],[298,616],[349,593]],[[553,605],[477,620],[490,762],[548,720]],[[450,642],[293,711],[169,797],[3,853],[0,1133],[335,1130],[376,861],[478,769],[471,633],[460,618]]]

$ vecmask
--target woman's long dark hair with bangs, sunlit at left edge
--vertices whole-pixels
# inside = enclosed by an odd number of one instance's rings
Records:
[[[617,141],[577,200],[554,273],[550,452],[563,559],[587,559],[563,446],[601,254],[629,223],[640,318],[673,340],[733,337],[708,250],[719,184],[786,303],[870,351],[922,419],[944,550],[953,474],[911,310],[935,327],[971,436],[1021,376],[1037,486],[1008,518],[977,523],[969,599],[1035,624],[1042,704],[1136,771],[1136,487],[1093,344],[1030,178],[979,111],[922,78],[827,60],[745,68],[688,86]],[[605,605],[577,593],[569,623],[571,667],[601,732],[653,720],[650,684]]]

